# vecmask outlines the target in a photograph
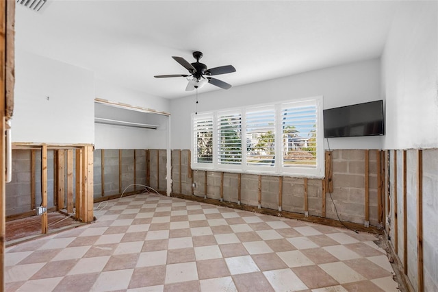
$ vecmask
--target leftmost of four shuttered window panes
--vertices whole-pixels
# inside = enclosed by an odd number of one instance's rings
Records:
[[[213,117],[211,114],[196,115],[193,124],[195,161],[211,163],[213,162]]]

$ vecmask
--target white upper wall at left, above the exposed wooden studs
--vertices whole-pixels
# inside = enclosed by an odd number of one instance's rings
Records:
[[[13,142],[94,143],[91,71],[16,49],[15,73]]]

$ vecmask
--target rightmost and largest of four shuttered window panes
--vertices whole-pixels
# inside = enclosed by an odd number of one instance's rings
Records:
[[[316,166],[316,106],[283,104],[283,167]]]

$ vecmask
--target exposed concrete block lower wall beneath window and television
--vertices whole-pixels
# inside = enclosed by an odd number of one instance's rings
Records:
[[[172,151],[172,193],[191,195],[190,184],[183,184],[187,188],[179,188],[179,169],[185,171],[190,167],[187,160],[181,160],[179,165],[179,151]],[[182,150],[181,153],[190,152]],[[378,151],[368,151],[368,178],[369,178],[369,214],[370,225],[377,226],[378,222],[378,178],[377,155]],[[334,150],[333,163],[333,202],[337,207],[339,217],[344,221],[363,224],[365,221],[365,150]],[[205,188],[205,171],[193,171],[193,182],[196,187],[193,194],[198,197],[207,195],[211,199],[220,199],[221,175],[219,171],[207,171],[207,188]],[[237,203],[238,201],[238,173],[223,174],[224,202]],[[183,178],[184,175],[183,175]],[[278,176],[261,175],[261,207],[272,210],[279,209]],[[191,182],[191,180],[190,180]],[[248,206],[259,205],[259,175],[241,174],[241,203]],[[326,217],[337,220],[335,206],[329,193],[326,193]],[[311,216],[322,215],[322,180],[307,179],[307,206]],[[305,213],[305,179],[283,177],[282,210],[288,212]]]

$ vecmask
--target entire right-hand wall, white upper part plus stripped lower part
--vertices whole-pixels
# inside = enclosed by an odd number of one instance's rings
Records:
[[[382,92],[386,97],[387,135],[385,149],[423,151],[423,247],[424,291],[438,289],[437,247],[437,165],[438,151],[438,2],[403,3],[395,14],[382,57]],[[417,290],[416,217],[417,161],[408,151],[407,233],[408,246],[402,246],[402,223],[398,223],[399,257],[408,250],[408,276]],[[401,154],[401,151],[398,151]],[[398,156],[401,173],[401,155]],[[398,175],[398,218],[403,218],[402,184]],[[393,223],[394,224],[394,223]],[[394,228],[394,226],[391,226]],[[392,239],[394,245],[394,239]]]

